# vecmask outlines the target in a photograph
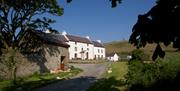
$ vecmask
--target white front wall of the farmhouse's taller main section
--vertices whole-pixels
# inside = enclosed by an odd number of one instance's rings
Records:
[[[67,44],[70,45],[69,47],[69,58],[73,59],[75,58],[75,53],[77,54],[77,58],[81,59],[86,59],[87,58],[87,53],[88,53],[88,59],[93,59],[94,58],[94,53],[93,53],[93,45],[92,44],[87,44],[87,43],[80,43],[80,42],[73,42],[69,41]],[[75,47],[77,50],[75,50]],[[82,52],[82,49],[84,53]]]

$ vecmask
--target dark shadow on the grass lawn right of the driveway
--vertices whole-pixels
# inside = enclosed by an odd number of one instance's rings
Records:
[[[120,91],[120,86],[124,85],[124,81],[116,80],[114,77],[102,78],[92,85],[87,91]]]

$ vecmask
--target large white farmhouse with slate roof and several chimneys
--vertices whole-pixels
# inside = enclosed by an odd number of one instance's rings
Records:
[[[80,37],[62,32],[69,47],[69,59],[105,59],[105,48],[100,41],[92,41],[89,36]]]

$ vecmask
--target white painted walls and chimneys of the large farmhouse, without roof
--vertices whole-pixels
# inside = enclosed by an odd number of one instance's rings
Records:
[[[75,54],[77,55],[77,58],[80,59],[94,59],[94,58],[103,58],[105,59],[105,48],[104,47],[95,47],[94,44],[90,43],[81,43],[81,42],[75,42],[75,41],[69,41],[68,37],[66,36],[67,33],[65,31],[62,32],[62,35],[68,40],[66,43],[70,45],[68,51],[69,51],[69,59],[75,59]],[[90,40],[89,36],[86,36],[88,40]],[[90,40],[91,41],[91,40]],[[97,42],[101,43],[100,40]],[[84,53],[82,53],[84,51]],[[87,55],[88,53],[88,55]]]

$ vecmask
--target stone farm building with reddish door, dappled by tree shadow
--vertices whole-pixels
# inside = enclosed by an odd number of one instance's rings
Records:
[[[16,74],[18,77],[29,76],[36,72],[45,73],[68,69],[69,45],[64,42],[64,36],[46,34],[40,31],[32,31],[31,34],[35,35],[35,39],[41,40],[41,46],[30,53],[16,53],[15,60],[18,62]],[[4,53],[2,56],[8,60],[9,53]],[[8,73],[10,72],[8,67],[2,62],[0,62],[0,69],[2,69],[0,76],[7,79],[11,77]]]

